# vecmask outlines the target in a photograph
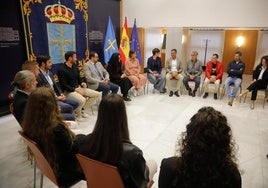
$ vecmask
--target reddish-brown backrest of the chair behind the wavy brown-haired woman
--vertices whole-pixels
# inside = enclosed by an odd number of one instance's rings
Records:
[[[28,136],[26,136],[22,131],[19,131],[19,134],[22,136],[23,140],[27,144],[27,146],[30,148],[30,150],[33,153],[35,163],[39,170],[48,177],[53,183],[55,183],[58,186],[58,182],[56,179],[56,176],[54,174],[54,171],[52,170],[50,164],[48,163],[47,159],[41,152],[38,144],[34,142],[32,139],[30,139]]]

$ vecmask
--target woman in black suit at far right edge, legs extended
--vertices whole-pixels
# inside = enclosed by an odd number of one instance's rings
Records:
[[[248,92],[251,92],[251,103],[250,108],[254,109],[255,107],[255,100],[257,98],[258,90],[260,89],[266,89],[268,84],[268,56],[263,56],[261,58],[261,62],[257,67],[255,68],[253,72],[253,80],[252,83],[248,86],[246,91],[241,93],[239,96],[242,97],[246,95]]]

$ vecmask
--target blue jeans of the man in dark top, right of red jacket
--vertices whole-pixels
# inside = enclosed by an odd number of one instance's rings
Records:
[[[237,93],[241,83],[242,83],[241,78],[236,78],[236,77],[228,77],[228,78],[226,78],[224,85],[225,85],[225,89],[226,89],[228,99],[234,99],[235,98],[236,93]],[[231,84],[234,84],[233,90],[231,90],[231,88],[230,88]]]

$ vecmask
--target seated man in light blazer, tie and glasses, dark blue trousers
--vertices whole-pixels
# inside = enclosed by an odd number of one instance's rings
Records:
[[[97,52],[90,52],[89,61],[84,64],[84,73],[88,83],[88,87],[93,90],[102,91],[102,96],[112,93],[117,93],[119,86],[110,82],[109,73],[98,61]]]

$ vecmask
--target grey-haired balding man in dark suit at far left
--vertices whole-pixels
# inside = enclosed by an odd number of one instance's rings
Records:
[[[35,75],[29,70],[19,71],[12,82],[12,86],[17,88],[14,95],[13,114],[20,125],[23,121],[23,114],[28,96],[36,89],[36,84],[37,81]]]

